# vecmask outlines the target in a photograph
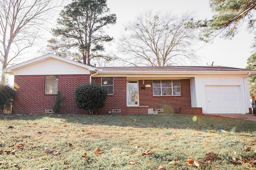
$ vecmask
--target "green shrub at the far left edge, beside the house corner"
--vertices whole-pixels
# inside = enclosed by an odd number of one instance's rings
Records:
[[[0,113],[4,112],[6,107],[12,105],[12,100],[16,98],[16,90],[10,86],[0,84]]]

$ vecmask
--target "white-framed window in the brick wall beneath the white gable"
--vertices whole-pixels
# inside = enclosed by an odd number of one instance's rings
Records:
[[[45,85],[46,94],[57,94],[58,79],[59,79],[58,75],[46,75],[46,85]]]

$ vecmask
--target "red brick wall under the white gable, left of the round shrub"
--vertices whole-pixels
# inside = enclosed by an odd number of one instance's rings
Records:
[[[65,97],[61,113],[88,113],[76,108],[74,90],[79,84],[88,83],[89,79],[89,74],[59,75],[58,88]],[[45,83],[46,75],[14,76],[17,97],[12,113],[45,113],[46,109],[52,109],[56,94],[45,94]]]

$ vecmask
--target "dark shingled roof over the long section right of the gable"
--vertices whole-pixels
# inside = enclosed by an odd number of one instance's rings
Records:
[[[129,66],[129,67],[97,67],[100,72],[152,72],[152,71],[166,71],[166,72],[183,72],[183,71],[251,71],[242,68],[233,68],[225,66]]]

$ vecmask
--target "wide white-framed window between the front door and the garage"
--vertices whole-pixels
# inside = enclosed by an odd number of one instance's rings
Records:
[[[153,96],[180,95],[180,80],[153,80]]]

